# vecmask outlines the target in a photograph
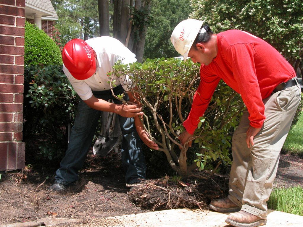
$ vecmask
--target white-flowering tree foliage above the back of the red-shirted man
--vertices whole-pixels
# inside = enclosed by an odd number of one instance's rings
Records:
[[[303,57],[303,1],[191,0],[191,18],[205,20],[215,32],[241,29],[274,46],[294,66]]]

